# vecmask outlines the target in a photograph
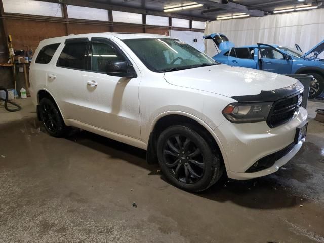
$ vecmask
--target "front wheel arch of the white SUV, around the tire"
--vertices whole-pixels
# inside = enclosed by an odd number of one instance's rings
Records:
[[[213,129],[208,126],[203,120],[185,112],[167,112],[156,117],[150,128],[150,135],[147,145],[147,162],[148,164],[155,164],[157,162],[156,155],[156,142],[159,134],[171,125],[189,125],[198,130],[199,134],[202,135],[209,143],[212,144],[213,148],[219,152],[220,159],[223,162],[225,168],[229,168],[226,164],[226,154],[224,148],[217,138]]]

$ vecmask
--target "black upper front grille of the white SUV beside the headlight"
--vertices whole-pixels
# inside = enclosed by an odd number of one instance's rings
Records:
[[[291,120],[301,106],[300,96],[302,94],[298,93],[274,102],[267,120],[268,125],[274,128]]]

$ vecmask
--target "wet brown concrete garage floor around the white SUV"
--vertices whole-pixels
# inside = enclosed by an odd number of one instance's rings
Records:
[[[284,168],[200,194],[169,185],[143,150],[50,137],[18,102],[0,106],[0,242],[324,242],[323,101],[309,102],[307,142]]]

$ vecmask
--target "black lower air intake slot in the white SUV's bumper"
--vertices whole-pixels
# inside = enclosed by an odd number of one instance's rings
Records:
[[[268,156],[265,156],[261,159],[259,159],[256,163],[254,163],[248,170],[246,170],[247,173],[251,172],[257,172],[262,171],[267,168],[270,168],[273,166],[275,161],[279,160],[280,158],[286,156],[293,148],[295,147],[295,143],[289,144],[284,149],[281,149],[280,151],[276,153],[272,153]]]

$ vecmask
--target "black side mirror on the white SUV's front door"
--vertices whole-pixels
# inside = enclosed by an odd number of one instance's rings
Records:
[[[106,73],[109,76],[116,77],[137,77],[133,67],[130,67],[126,61],[115,61],[106,64]]]

